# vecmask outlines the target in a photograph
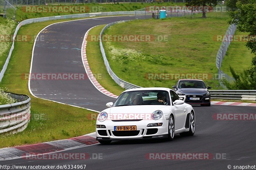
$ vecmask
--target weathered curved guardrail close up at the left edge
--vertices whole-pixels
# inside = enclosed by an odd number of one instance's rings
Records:
[[[0,105],[0,134],[9,135],[26,129],[30,120],[30,97],[8,92],[17,103]]]

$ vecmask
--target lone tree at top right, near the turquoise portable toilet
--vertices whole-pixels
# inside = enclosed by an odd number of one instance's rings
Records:
[[[217,5],[218,0],[186,0],[186,6],[203,6],[203,16],[202,18],[206,18],[206,8]]]

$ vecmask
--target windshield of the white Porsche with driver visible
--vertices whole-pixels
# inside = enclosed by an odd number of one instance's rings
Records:
[[[170,105],[170,97],[164,90],[143,90],[122,93],[113,107],[134,105]]]

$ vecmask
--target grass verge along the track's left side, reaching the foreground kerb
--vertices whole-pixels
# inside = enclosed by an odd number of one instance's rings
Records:
[[[25,35],[28,32],[36,35],[45,26],[67,20],[25,25],[20,28],[18,35]],[[87,116],[94,112],[31,96],[28,91],[28,80],[23,80],[21,74],[29,73],[33,44],[33,41],[15,42],[10,63],[0,84],[2,88],[7,87],[10,92],[31,97],[30,123],[23,132],[1,136],[0,148],[66,139],[95,131],[95,120],[87,119]]]

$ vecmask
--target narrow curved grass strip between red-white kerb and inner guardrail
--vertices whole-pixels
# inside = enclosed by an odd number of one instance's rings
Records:
[[[109,92],[120,95],[125,89],[117,85],[116,82],[109,76],[100,52],[99,41],[89,40],[91,35],[100,35],[100,32],[104,26],[105,25],[97,26],[92,28],[92,30],[89,32],[86,44],[86,56],[92,73],[101,75],[101,77],[97,78],[100,85],[102,85]]]

